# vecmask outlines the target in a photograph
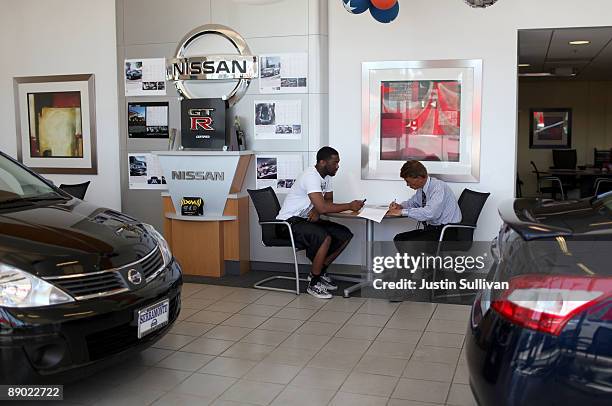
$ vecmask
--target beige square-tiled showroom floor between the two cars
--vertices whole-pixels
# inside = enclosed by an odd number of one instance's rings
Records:
[[[185,284],[168,335],[67,385],[64,404],[471,406],[468,312]]]

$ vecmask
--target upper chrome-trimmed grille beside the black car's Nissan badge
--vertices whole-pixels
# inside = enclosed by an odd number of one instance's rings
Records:
[[[165,266],[159,246],[138,261],[119,268],[87,274],[51,276],[45,280],[69,293],[76,300],[87,300],[127,292],[129,285],[122,276],[122,271],[137,265],[140,265],[147,283],[157,277]]]

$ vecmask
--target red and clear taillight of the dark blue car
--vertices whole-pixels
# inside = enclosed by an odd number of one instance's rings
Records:
[[[612,294],[612,278],[524,275],[491,303],[503,317],[532,330],[559,335],[576,314]]]

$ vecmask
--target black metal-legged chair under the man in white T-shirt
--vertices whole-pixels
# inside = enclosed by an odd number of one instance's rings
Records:
[[[257,190],[247,189],[247,192],[249,193],[249,196],[251,196],[251,200],[253,201],[255,210],[257,211],[257,217],[259,217],[259,225],[261,226],[261,243],[264,245],[264,247],[291,247],[293,250],[293,263],[295,265],[295,278],[290,276],[271,276],[257,282],[255,285],[253,285],[253,287],[255,289],[290,292],[299,295],[300,281],[306,282],[307,279],[300,278],[296,253],[305,249],[305,247],[295,244],[291,224],[286,221],[276,219],[276,216],[280,211],[280,203],[278,202],[274,189],[271,187]],[[286,236],[282,235],[282,233],[279,235],[279,231],[282,230],[283,227],[286,227],[289,238],[286,238]],[[264,283],[276,279],[295,280],[295,291],[292,289],[262,286]]]

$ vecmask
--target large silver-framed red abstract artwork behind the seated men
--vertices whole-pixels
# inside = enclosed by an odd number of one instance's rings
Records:
[[[480,179],[482,60],[362,64],[362,179],[405,161],[451,182]]]

